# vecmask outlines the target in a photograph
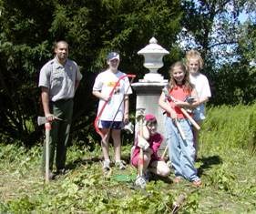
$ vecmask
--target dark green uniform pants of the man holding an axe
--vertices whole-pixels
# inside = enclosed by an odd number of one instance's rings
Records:
[[[73,99],[63,99],[51,103],[51,112],[54,116],[63,120],[55,119],[51,124],[49,139],[49,169],[53,170],[56,155],[56,170],[65,168],[67,145],[73,115]],[[55,154],[56,153],[56,154]],[[42,170],[46,167],[46,142],[44,143]]]

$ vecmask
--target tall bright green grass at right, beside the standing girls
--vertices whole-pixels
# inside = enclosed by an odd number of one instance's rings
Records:
[[[256,148],[256,104],[251,106],[211,107],[202,125],[200,140],[206,145],[220,148]]]

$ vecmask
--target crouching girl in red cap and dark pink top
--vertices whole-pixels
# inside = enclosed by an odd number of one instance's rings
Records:
[[[145,123],[143,126],[143,133],[142,137],[144,140],[141,141],[138,139],[140,133],[138,132],[138,136],[136,139],[135,148],[131,154],[131,164],[134,167],[138,167],[138,156],[139,156],[139,149],[142,148],[143,155],[144,155],[144,162],[143,162],[143,174],[144,176],[137,177],[135,184],[140,187],[145,187],[146,182],[148,180],[148,172],[152,172],[162,177],[167,177],[169,175],[169,167],[165,163],[164,160],[159,158],[158,151],[159,147],[163,141],[163,137],[157,131],[158,122],[154,115],[148,114],[145,116]]]

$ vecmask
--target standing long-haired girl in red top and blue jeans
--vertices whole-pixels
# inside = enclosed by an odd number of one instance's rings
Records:
[[[196,90],[189,82],[189,73],[182,62],[177,62],[169,70],[169,89],[167,95],[162,92],[159,97],[159,106],[167,112],[166,134],[169,145],[169,158],[175,172],[174,182],[179,182],[181,178],[186,178],[196,187],[201,184],[197,176],[197,169],[194,166],[195,148],[193,145],[192,127],[180,107],[192,107],[186,100],[188,96],[197,99]],[[178,128],[178,125],[180,128]],[[181,135],[182,130],[183,134]],[[183,138],[182,138],[183,136]]]

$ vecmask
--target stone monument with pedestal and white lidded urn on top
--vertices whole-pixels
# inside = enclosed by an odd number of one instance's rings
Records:
[[[163,56],[168,55],[169,51],[158,45],[156,38],[149,40],[149,45],[138,51],[138,55],[144,56],[144,64],[148,68],[149,73],[143,79],[139,79],[137,83],[131,86],[136,91],[136,108],[145,108],[145,113],[153,114],[158,119],[158,130],[165,137],[164,115],[163,110],[159,107],[159,96],[162,88],[168,84],[168,80],[164,79],[158,73],[160,67],[163,66]],[[165,145],[163,145],[165,147]],[[162,148],[163,148],[162,147]]]

